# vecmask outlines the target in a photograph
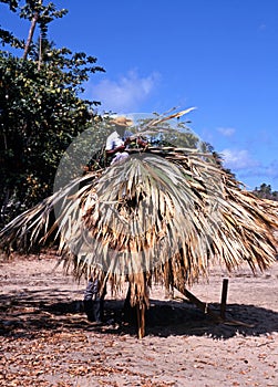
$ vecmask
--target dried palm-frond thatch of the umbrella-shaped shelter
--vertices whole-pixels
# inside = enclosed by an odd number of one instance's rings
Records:
[[[49,229],[53,209],[56,221]],[[130,282],[143,337],[154,278],[188,295],[188,284],[207,276],[212,264],[231,271],[247,262],[254,272],[265,270],[277,253],[277,213],[276,202],[244,190],[214,155],[147,147],[74,179],[10,222],[0,240],[20,248],[27,236],[32,244],[56,231],[59,253],[76,278],[93,270],[103,286]]]

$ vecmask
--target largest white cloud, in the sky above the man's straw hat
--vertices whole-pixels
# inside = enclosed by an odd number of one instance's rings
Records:
[[[102,103],[101,108],[115,113],[136,111],[159,81],[157,73],[140,77],[136,71],[116,81],[103,80],[92,87],[92,98]]]

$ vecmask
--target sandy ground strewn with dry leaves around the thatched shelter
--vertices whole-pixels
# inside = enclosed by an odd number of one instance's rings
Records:
[[[106,297],[114,323],[94,326],[82,311],[85,282],[55,263],[54,253],[0,260],[0,386],[278,386],[278,262],[257,276],[213,270],[191,289],[218,313],[228,278],[234,325],[154,286],[142,341],[123,322],[124,293]]]

